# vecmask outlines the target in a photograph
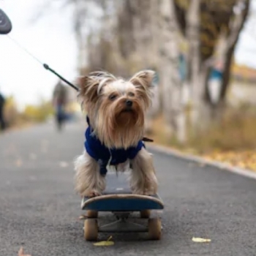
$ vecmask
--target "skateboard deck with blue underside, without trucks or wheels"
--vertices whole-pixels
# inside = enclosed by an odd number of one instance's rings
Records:
[[[127,178],[123,173],[108,173],[107,187],[103,195],[83,197],[81,208],[93,211],[143,211],[164,208],[159,195],[132,194]]]

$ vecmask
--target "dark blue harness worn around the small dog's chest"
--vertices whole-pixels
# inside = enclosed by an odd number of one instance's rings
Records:
[[[107,173],[107,165],[110,161],[110,165],[118,165],[122,162],[126,162],[127,159],[134,159],[142,147],[145,145],[142,140],[140,140],[135,147],[124,148],[107,148],[102,144],[99,139],[92,134],[93,130],[90,126],[89,117],[86,116],[86,121],[89,125],[87,127],[85,136],[86,141],[84,146],[90,157],[95,159],[100,166],[99,172],[102,176]]]

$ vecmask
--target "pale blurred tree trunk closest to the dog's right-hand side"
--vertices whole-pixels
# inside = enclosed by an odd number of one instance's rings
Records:
[[[161,1],[162,27],[162,102],[167,132],[176,135],[180,143],[187,140],[184,105],[182,105],[182,87],[178,76],[178,25],[173,1]]]

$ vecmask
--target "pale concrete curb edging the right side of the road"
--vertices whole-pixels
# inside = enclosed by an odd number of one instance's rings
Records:
[[[225,164],[223,162],[208,160],[208,159],[205,159],[203,157],[198,157],[194,154],[182,153],[181,151],[178,151],[176,149],[172,149],[172,148],[169,148],[167,146],[161,146],[159,144],[147,145],[147,148],[149,150],[157,151],[157,152],[162,153],[162,154],[167,154],[167,155],[172,156],[172,157],[177,157],[177,158],[184,159],[184,160],[191,161],[191,162],[197,162],[197,163],[200,163],[201,165],[208,165],[208,166],[217,167],[221,170],[227,170],[230,173],[236,173],[240,176],[245,176],[247,178],[256,179],[256,173],[253,172],[252,170],[247,170],[247,169],[243,169],[243,168],[240,168],[240,167],[233,167],[233,166],[230,166],[230,165]]]

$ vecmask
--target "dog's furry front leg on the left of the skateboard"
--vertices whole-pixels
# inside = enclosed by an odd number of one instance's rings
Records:
[[[75,159],[75,191],[81,197],[101,195],[105,189],[105,178],[99,173],[98,163],[87,154]]]

